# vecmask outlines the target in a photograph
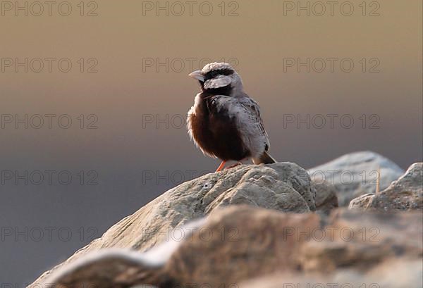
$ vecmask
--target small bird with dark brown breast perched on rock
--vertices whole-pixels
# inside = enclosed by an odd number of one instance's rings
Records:
[[[221,159],[216,172],[231,160],[275,163],[259,106],[231,65],[209,63],[189,76],[200,82],[201,92],[188,111],[188,134],[203,154]]]

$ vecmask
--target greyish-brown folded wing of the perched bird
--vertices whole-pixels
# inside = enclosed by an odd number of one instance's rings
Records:
[[[264,129],[260,108],[256,101],[248,96],[240,98],[216,95],[208,99],[207,107],[211,112],[226,110],[229,117],[235,118],[245,144],[251,146],[253,139],[255,139],[259,141],[259,145],[263,145],[266,151],[269,149],[269,138]]]

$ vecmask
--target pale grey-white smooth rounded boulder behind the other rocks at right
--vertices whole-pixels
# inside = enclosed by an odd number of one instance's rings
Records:
[[[338,192],[339,206],[348,206],[352,199],[376,191],[380,168],[380,189],[397,180],[404,171],[387,158],[371,151],[346,154],[329,163],[309,169],[314,182],[326,180]]]

